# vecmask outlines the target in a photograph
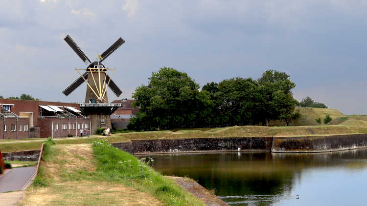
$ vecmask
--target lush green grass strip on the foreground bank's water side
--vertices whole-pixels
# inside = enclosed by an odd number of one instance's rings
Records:
[[[98,175],[109,181],[122,181],[150,193],[166,206],[204,206],[172,180],[164,178],[146,163],[105,141],[93,143]]]

